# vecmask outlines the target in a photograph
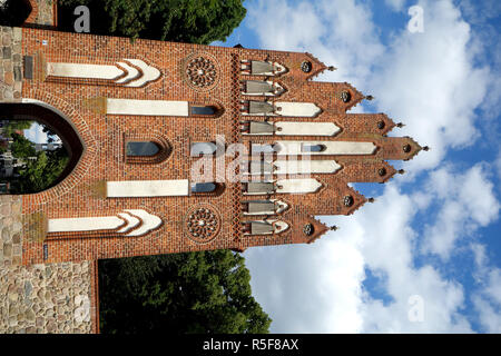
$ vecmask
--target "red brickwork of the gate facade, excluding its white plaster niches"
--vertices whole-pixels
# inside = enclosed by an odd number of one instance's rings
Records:
[[[385,160],[410,159],[421,147],[410,138],[385,135],[395,123],[383,113],[357,115],[346,111],[365,97],[348,83],[314,82],[311,78],[326,70],[326,66],[308,53],[243,48],[222,48],[187,43],[136,40],[125,38],[66,33],[32,28],[22,29],[22,55],[32,60],[32,76],[22,82],[22,100],[38,100],[49,106],[60,120],[69,125],[46,121],[59,130],[73,151],[73,166],[69,175],[55,187],[35,195],[22,196],[24,218],[24,265],[39,263],[79,261],[137,255],[154,255],[204,249],[230,248],[243,250],[250,246],[311,243],[328,228],[313,218],[316,215],[348,215],[366,199],[347,186],[347,182],[384,182],[394,174]],[[210,77],[202,83],[191,82],[187,67],[193,59],[203,57],[214,66]],[[139,59],[160,71],[160,77],[135,88],[101,79],[56,78],[47,72],[47,63],[89,63],[114,66],[126,59]],[[265,80],[263,76],[245,76],[242,60],[278,62],[286,72],[269,77],[284,89],[273,101],[312,102],[322,109],[313,118],[271,117],[272,121],[334,122],[341,128],[335,136],[245,136],[240,121],[263,121],[263,116],[243,116],[240,100],[264,101],[264,96],[243,96],[240,81]],[[302,70],[303,62],[311,70]],[[132,66],[134,67],[134,66]],[[141,72],[141,69],[135,67]],[[143,75],[145,75],[143,72]],[[344,102],[343,92],[350,93]],[[132,116],[110,115],[107,99],[179,100],[190,105],[212,106],[214,116]],[[26,103],[22,103],[23,106]],[[36,116],[46,112],[39,103],[30,105]],[[364,141],[377,148],[372,155],[322,156],[335,159],[341,169],[335,174],[312,174],[322,184],[316,192],[299,195],[271,195],[285,201],[288,208],[269,217],[288,224],[281,234],[243,234],[243,222],[262,220],[266,216],[245,216],[243,202],[265,199],[266,196],[244,196],[240,182],[230,182],[218,175],[215,192],[171,197],[107,198],[107,181],[189,179],[198,158],[190,157],[193,142],[213,142],[224,136],[226,146],[242,142],[277,140]],[[77,141],[81,141],[81,146]],[[126,155],[128,141],[154,141],[160,152],[148,159]],[[81,154],[80,154],[81,152]],[[210,158],[213,159],[213,158]],[[285,159],[285,158],[279,158]],[[320,159],[314,156],[312,159]],[[234,157],[225,156],[225,167]],[[222,161],[219,160],[219,164]],[[237,168],[238,169],[238,168]],[[274,177],[282,179],[285,177]],[[289,177],[299,178],[299,177]],[[346,202],[346,197],[352,197]],[[210,236],[200,238],[189,231],[188,222],[198,209],[207,209],[205,218],[216,228]],[[117,230],[94,233],[47,233],[47,221],[58,218],[116,216],[126,209],[144,209],[161,219],[161,226],[139,237],[122,236]],[[305,226],[311,224],[310,234]]]

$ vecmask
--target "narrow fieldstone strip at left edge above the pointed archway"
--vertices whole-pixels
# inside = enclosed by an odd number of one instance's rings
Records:
[[[21,100],[21,39],[20,28],[0,27],[0,101]]]

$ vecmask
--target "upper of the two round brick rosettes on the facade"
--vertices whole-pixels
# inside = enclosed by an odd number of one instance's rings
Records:
[[[209,90],[219,80],[219,66],[208,53],[195,53],[185,60],[184,77],[188,86],[195,90]]]

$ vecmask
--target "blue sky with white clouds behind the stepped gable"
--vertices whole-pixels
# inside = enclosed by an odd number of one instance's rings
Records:
[[[223,46],[308,51],[431,147],[341,227],[306,246],[248,249],[273,333],[500,333],[498,0],[247,0]],[[423,28],[410,31],[422,9]],[[415,10],[418,9],[418,10]],[[411,29],[419,30],[412,22]],[[215,43],[216,44],[216,43]],[[220,43],[218,43],[220,44]]]

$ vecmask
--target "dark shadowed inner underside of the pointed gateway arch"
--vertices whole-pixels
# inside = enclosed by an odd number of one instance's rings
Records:
[[[84,157],[86,151],[86,145],[77,129],[65,117],[62,112],[52,108],[49,105],[39,102],[37,100],[27,100],[26,102],[1,102],[0,103],[1,117],[7,120],[21,121],[37,121],[49,128],[61,140],[61,146],[68,155],[68,161],[59,174],[48,186],[42,189],[36,189],[33,191],[22,191],[13,194],[38,194],[46,191],[52,187],[62,182],[78,166],[79,161]],[[42,149],[43,145],[39,147]]]

